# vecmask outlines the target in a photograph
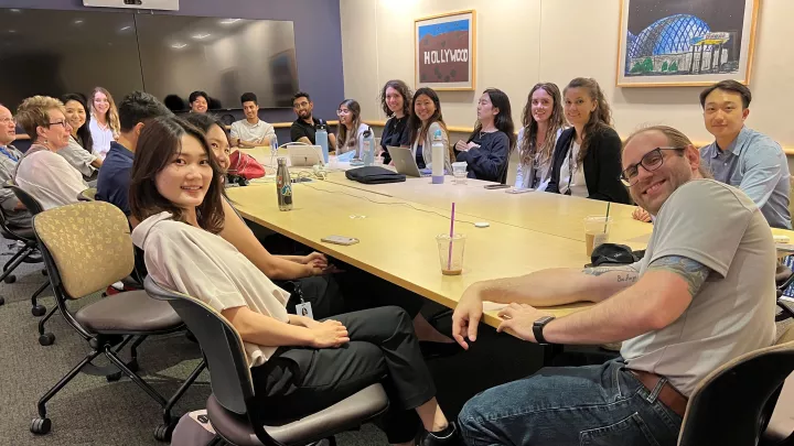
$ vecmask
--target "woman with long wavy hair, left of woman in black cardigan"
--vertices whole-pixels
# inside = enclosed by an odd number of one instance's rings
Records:
[[[566,127],[557,85],[540,83],[529,90],[522,123],[515,187],[545,191],[555,145]]]

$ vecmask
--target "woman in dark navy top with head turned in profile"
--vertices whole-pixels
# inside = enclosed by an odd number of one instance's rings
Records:
[[[516,144],[509,98],[486,89],[478,102],[478,122],[466,142],[458,141],[458,161],[469,164],[469,177],[504,184],[507,162]]]

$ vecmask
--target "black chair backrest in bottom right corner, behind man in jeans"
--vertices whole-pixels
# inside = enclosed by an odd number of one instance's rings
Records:
[[[698,383],[689,396],[678,445],[758,444],[792,371],[794,326],[774,346],[742,355]]]

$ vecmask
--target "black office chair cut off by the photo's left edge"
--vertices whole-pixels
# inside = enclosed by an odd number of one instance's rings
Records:
[[[11,189],[17,198],[28,208],[28,211],[31,216],[34,216],[44,208],[42,207],[41,203],[30,196],[26,192],[22,191],[17,184],[10,180],[4,185],[4,188]],[[19,266],[20,263],[40,263],[42,260],[41,258],[34,258],[34,255],[37,253],[37,242],[35,240],[35,235],[33,233],[33,228],[31,229],[24,229],[24,230],[12,230],[10,227],[6,225],[6,216],[3,215],[3,230],[8,230],[9,235],[12,237],[17,237],[18,240],[22,240],[25,243],[25,247],[20,250],[14,258],[11,258],[6,265],[3,265],[3,274],[0,275],[0,279],[6,280],[8,276],[10,276],[11,272]],[[14,261],[14,263],[12,263]],[[13,268],[12,268],[13,266]],[[42,271],[44,274],[46,274],[46,270]],[[12,283],[17,280],[14,278],[11,282],[6,283]],[[46,307],[44,305],[39,304],[39,295],[44,292],[44,290],[50,286],[50,281],[45,281],[42,283],[39,289],[33,292],[33,295],[31,296],[31,314],[33,316],[40,317],[43,316],[46,313]],[[42,325],[44,322],[46,322],[52,316],[52,312],[50,315],[45,316],[42,320],[39,322],[40,325]],[[42,325],[43,327],[43,325]],[[40,330],[41,331],[41,330]]]

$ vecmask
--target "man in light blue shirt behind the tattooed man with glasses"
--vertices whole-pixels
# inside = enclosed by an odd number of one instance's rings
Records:
[[[700,149],[715,180],[742,189],[773,228],[791,229],[788,162],[774,140],[744,127],[750,89],[722,80],[700,94],[706,129],[715,142]]]

